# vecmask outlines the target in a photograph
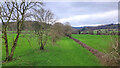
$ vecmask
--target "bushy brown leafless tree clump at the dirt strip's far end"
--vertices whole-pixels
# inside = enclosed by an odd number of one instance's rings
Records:
[[[72,35],[72,27],[69,23],[62,24],[60,22],[56,22],[51,26],[49,36],[51,37],[52,43],[55,44],[58,39],[63,36],[71,37]]]

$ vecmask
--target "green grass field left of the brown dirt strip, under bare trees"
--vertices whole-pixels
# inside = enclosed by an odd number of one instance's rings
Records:
[[[8,36],[12,40],[12,35]],[[26,36],[29,38],[29,35]],[[9,40],[10,46],[12,45]],[[20,37],[14,53],[14,60],[3,66],[99,66],[99,60],[68,37],[63,37],[52,45],[50,40],[44,51],[39,50],[37,38],[27,39]],[[9,46],[9,49],[10,49]],[[2,59],[5,59],[5,47],[2,45]]]

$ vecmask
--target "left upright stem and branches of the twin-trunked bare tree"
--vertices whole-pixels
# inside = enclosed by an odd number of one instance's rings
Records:
[[[2,21],[2,38],[5,40],[5,48],[6,48],[6,60],[9,57],[9,50],[8,50],[8,38],[7,38],[7,26],[11,20],[11,16],[14,10],[14,3],[11,2],[5,2],[4,4],[1,4],[1,14],[0,19]]]

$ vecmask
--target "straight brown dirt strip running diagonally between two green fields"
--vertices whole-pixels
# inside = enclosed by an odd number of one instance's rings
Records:
[[[77,42],[78,44],[80,44],[82,47],[84,47],[84,48],[86,48],[87,50],[89,50],[92,54],[94,54],[94,55],[95,55],[96,57],[98,57],[100,60],[103,60],[103,58],[102,58],[102,56],[104,56],[103,53],[101,53],[101,52],[99,52],[99,51],[97,51],[97,50],[89,47],[88,45],[82,43],[81,41],[79,41],[79,40],[77,40],[77,39],[75,39],[75,38],[72,38],[72,37],[71,37],[71,39],[73,39],[75,42]]]

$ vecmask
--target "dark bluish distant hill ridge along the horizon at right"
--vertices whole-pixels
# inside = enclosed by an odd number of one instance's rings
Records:
[[[101,26],[85,26],[85,27],[72,27],[74,29],[84,29],[84,31],[87,30],[98,30],[98,29],[118,29],[118,24],[106,24]]]

